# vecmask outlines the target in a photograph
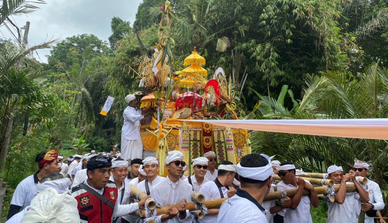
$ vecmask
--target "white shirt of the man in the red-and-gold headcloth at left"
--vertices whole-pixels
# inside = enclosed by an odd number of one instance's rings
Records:
[[[30,206],[31,200],[35,196],[36,185],[39,182],[37,174],[38,172],[27,176],[17,185],[12,196],[11,205],[20,206],[22,209]]]

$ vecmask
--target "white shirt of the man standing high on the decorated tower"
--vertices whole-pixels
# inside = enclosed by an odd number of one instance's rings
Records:
[[[121,140],[138,140],[140,138],[140,120],[142,111],[128,106],[124,112],[124,125],[121,128]]]

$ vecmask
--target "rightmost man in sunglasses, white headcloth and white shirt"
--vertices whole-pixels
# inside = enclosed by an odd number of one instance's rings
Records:
[[[355,159],[352,170],[356,173],[356,176],[367,177],[369,174],[369,164],[365,161]],[[379,185],[371,179],[368,179],[368,183],[364,189],[369,194],[369,202],[361,205],[361,202],[358,200],[356,202],[357,214],[359,214],[359,210],[365,211],[365,223],[373,223],[372,217],[377,216],[377,210],[384,209],[383,195],[381,194]]]

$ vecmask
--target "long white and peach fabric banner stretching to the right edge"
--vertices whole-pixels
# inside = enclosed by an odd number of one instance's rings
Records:
[[[181,120],[257,131],[388,140],[388,119]]]

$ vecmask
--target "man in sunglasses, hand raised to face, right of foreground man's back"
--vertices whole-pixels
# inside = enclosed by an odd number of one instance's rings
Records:
[[[277,191],[297,189],[296,194],[291,198],[291,207],[284,213],[284,223],[312,223],[310,203],[313,207],[319,206],[314,187],[307,180],[295,176],[295,165],[291,162],[281,163],[278,171],[277,175],[282,181],[277,184]],[[310,195],[303,196],[303,190],[309,191]]]

